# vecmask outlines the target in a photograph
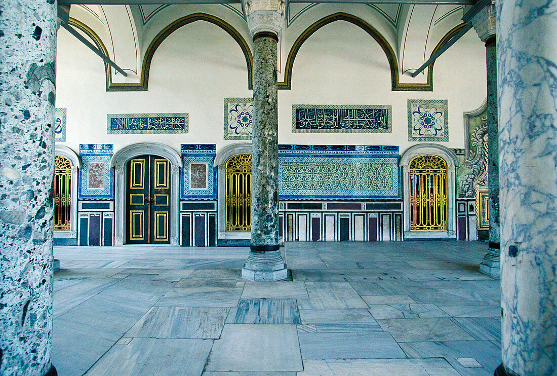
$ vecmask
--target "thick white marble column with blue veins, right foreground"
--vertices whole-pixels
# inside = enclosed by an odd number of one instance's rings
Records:
[[[497,2],[502,364],[557,374],[557,1]]]

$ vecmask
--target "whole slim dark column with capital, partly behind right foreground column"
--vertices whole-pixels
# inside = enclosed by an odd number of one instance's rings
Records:
[[[471,8],[471,7],[470,7]],[[501,275],[501,228],[499,224],[499,125],[497,123],[497,54],[495,0],[487,4],[471,20],[478,36],[486,45],[487,71],[487,185],[489,189],[489,243],[480,271]]]

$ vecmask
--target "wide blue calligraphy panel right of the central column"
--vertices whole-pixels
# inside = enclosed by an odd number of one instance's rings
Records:
[[[392,133],[390,105],[292,105],[292,132]]]

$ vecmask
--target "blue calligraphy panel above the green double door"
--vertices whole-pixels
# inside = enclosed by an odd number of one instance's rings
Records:
[[[108,114],[106,134],[188,133],[188,114]]]

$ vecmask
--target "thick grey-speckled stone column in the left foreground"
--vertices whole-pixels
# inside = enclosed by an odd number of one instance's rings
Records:
[[[2,0],[0,45],[0,374],[55,375],[56,1]]]

